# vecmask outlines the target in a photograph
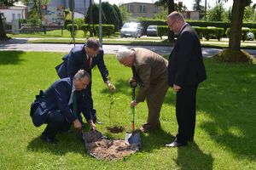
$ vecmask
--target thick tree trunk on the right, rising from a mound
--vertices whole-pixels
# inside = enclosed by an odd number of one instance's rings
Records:
[[[240,50],[241,26],[245,5],[246,0],[233,0],[229,41],[229,48],[232,50]]]

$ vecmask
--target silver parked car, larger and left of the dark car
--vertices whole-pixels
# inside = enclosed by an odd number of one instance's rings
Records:
[[[129,22],[121,29],[120,37],[142,37],[143,26],[140,23]]]

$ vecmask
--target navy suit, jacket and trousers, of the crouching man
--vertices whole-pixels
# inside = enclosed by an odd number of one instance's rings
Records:
[[[47,123],[44,135],[53,138],[60,130],[68,130],[72,122],[77,119],[73,113],[73,104],[68,105],[72,94],[73,82],[70,77],[54,82],[46,91],[40,91],[37,99],[32,103],[32,122],[36,127]],[[75,91],[79,94],[79,91]],[[84,105],[84,98],[78,95],[77,107],[84,114],[86,120],[90,120],[90,115],[86,115],[88,105]],[[64,128],[64,129],[63,129]]]

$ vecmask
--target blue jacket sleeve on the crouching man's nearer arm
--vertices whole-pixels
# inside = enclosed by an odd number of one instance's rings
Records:
[[[77,116],[75,116],[69,108],[68,101],[70,96],[68,96],[69,93],[65,84],[63,82],[57,84],[54,90],[57,105],[61,114],[66,117],[67,122],[73,122],[77,119]]]

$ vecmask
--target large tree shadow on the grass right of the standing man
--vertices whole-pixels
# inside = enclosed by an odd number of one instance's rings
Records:
[[[207,67],[208,80],[199,87],[197,103],[211,121],[200,127],[224,150],[255,160],[255,65],[211,61]]]

